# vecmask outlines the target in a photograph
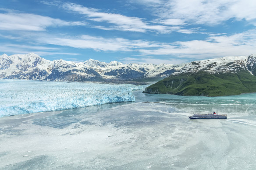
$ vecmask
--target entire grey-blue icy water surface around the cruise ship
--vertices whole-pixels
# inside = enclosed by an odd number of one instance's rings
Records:
[[[0,169],[255,169],[256,93],[133,94],[130,103],[1,117]],[[188,119],[213,111],[228,119]]]

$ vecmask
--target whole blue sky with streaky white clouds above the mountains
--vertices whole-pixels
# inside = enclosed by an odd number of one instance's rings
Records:
[[[256,54],[255,0],[0,0],[0,55],[181,64]]]

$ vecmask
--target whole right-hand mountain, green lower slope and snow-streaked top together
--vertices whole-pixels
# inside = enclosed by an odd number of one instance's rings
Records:
[[[181,96],[229,96],[256,92],[256,55],[193,61],[145,93]]]

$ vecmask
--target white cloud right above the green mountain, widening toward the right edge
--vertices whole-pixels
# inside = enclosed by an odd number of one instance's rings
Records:
[[[206,40],[165,44],[154,50],[138,50],[142,55],[172,55],[205,59],[223,56],[242,56],[256,53],[256,30],[234,35],[213,35]]]

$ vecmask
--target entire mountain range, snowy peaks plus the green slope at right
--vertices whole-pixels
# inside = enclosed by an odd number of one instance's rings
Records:
[[[228,96],[256,92],[256,55],[222,57],[191,63],[122,64],[98,60],[75,63],[46,60],[34,53],[0,56],[0,79],[42,81],[158,81],[145,93]]]

